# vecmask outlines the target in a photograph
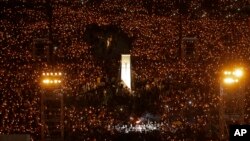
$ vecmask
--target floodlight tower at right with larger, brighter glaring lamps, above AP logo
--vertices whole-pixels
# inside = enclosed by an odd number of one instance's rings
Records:
[[[244,122],[244,69],[225,70],[220,80],[219,130],[220,140],[228,139],[227,122]],[[229,93],[232,92],[232,93]],[[229,106],[227,106],[229,103]],[[231,104],[231,105],[230,105]]]

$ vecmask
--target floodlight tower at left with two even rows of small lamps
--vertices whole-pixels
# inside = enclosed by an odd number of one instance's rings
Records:
[[[57,100],[57,96],[55,96],[54,92],[55,90],[60,89],[60,86],[62,85],[62,78],[63,75],[61,72],[43,72],[41,76],[41,87],[43,88],[43,91],[41,94],[41,141],[45,141],[45,125],[46,121],[50,121],[50,118],[47,115],[45,115],[45,101],[46,100]],[[52,93],[52,94],[51,94]],[[56,98],[55,98],[56,97]],[[63,101],[63,93],[61,93],[60,97],[60,118],[58,120],[60,123],[60,140],[64,140],[64,101]],[[56,102],[55,102],[56,103]],[[48,108],[46,109],[48,110]],[[53,113],[54,114],[54,113]],[[55,117],[55,119],[57,119]],[[54,120],[53,120],[54,121]]]

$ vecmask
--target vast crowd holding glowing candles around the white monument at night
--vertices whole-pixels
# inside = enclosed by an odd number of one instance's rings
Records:
[[[221,70],[230,63],[249,64],[247,0],[19,2],[1,2],[0,134],[40,137],[39,77],[51,66],[33,50],[37,39],[49,40],[52,32],[53,69],[65,74],[63,89],[70,99],[65,104],[66,136],[119,138],[111,126],[129,123],[130,115],[140,117],[149,110],[164,123],[178,123],[172,125],[178,128],[175,133],[163,133],[162,138],[198,139],[204,133],[208,139],[218,138]],[[83,38],[93,23],[118,26],[133,39],[132,93],[110,80],[107,70],[112,65],[93,56]],[[191,55],[186,51],[190,43]],[[74,104],[81,101],[87,104]],[[246,108],[247,122],[249,112]]]

